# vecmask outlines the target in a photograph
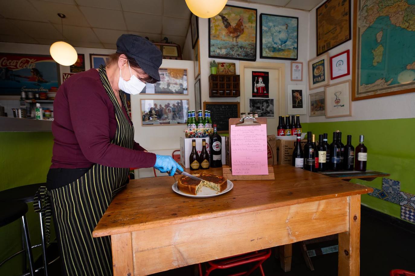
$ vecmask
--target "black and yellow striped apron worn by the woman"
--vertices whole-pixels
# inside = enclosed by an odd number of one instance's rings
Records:
[[[108,81],[105,67],[99,68],[98,72],[115,109],[117,131],[111,143],[132,149],[134,128],[121,109],[127,107],[125,97],[121,95],[123,107],[120,107]],[[51,191],[47,191],[46,187],[39,189],[39,199],[50,196],[56,220],[56,234],[63,255],[63,270],[68,276],[112,275],[110,237],[93,238],[92,231],[115,194],[125,187],[128,171],[128,168],[95,164],[81,178],[66,186]],[[47,201],[46,199],[46,203],[42,204],[47,206]],[[36,202],[35,200],[35,205]],[[35,206],[36,210],[41,208],[42,206]],[[50,217],[46,224],[50,224]]]

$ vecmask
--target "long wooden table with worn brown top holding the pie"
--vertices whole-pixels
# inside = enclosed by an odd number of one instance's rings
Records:
[[[174,193],[172,177],[132,180],[93,236],[111,235],[114,275],[131,276],[339,233],[339,275],[359,275],[360,195],[373,190],[289,165],[274,172],[206,199]]]

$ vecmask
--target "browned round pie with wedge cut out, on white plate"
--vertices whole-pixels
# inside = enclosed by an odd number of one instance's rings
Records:
[[[182,176],[177,182],[177,187],[180,191],[186,194],[197,195],[198,192],[202,189],[203,186],[210,188],[212,190],[222,192],[227,187],[227,179],[222,175],[217,174],[208,174],[205,172],[193,174],[196,177],[203,179],[195,180],[190,177]]]

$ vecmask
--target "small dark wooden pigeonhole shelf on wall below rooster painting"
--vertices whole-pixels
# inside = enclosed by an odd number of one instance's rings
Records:
[[[209,76],[209,97],[239,97],[239,75],[214,75]]]

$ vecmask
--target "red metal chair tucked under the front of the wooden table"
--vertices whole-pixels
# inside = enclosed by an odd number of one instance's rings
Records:
[[[230,274],[229,276],[248,276],[255,269],[259,268],[261,271],[261,275],[265,276],[264,269],[262,269],[262,263],[271,256],[271,248],[254,251],[245,254],[239,254],[232,257],[227,257],[223,259],[217,259],[214,261],[208,261],[205,263],[206,269],[205,274],[203,274],[202,264],[199,264],[199,275],[200,276],[209,276],[209,274],[215,269],[228,269],[235,266],[241,266],[243,264],[249,264],[252,262],[256,262],[256,264],[249,269],[248,271],[242,271],[234,274]]]

